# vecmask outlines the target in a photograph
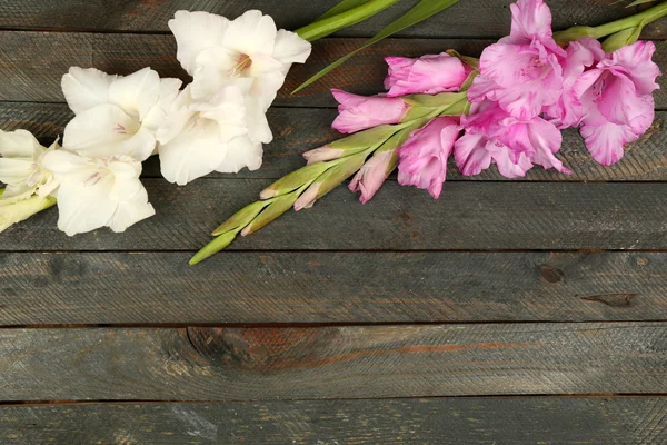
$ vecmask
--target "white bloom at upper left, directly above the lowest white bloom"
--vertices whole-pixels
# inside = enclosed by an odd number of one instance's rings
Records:
[[[160,79],[150,68],[130,76],[72,67],[62,92],[77,115],[64,129],[63,147],[90,158],[126,155],[142,161],[156,150],[156,131],[181,81]]]

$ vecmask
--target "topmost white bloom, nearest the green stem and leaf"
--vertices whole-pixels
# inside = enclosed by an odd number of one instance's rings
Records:
[[[192,97],[202,99],[228,85],[247,89],[248,128],[253,142],[270,142],[266,120],[292,63],[302,63],[311,46],[293,32],[277,30],[273,19],[250,10],[236,20],[208,12],[178,11],[169,28],[177,58],[193,77]]]

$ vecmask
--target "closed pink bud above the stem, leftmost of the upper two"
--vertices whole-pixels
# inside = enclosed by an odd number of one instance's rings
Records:
[[[385,123],[398,123],[410,108],[398,98],[365,97],[336,89],[331,92],[340,103],[338,117],[331,127],[342,134],[357,132]]]

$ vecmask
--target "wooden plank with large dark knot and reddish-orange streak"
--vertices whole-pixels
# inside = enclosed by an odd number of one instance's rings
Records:
[[[666,323],[0,330],[0,399],[667,392]]]

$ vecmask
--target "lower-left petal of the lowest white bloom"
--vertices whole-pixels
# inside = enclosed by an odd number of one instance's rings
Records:
[[[118,206],[109,197],[112,186],[111,172],[66,177],[58,189],[58,228],[74,236],[107,226]]]

